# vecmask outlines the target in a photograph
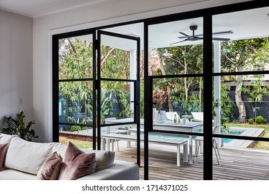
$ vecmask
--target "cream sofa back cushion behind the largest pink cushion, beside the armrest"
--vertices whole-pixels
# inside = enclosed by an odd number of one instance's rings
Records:
[[[64,157],[64,152],[67,149],[67,145],[62,143],[55,143],[53,146],[53,152],[58,152],[60,157]],[[83,149],[86,153],[95,153],[96,157],[96,172],[104,170],[105,168],[110,168],[114,164],[115,153],[111,151],[103,150],[88,150]]]

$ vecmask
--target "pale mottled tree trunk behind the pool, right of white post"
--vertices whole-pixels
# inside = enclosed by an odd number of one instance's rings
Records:
[[[238,79],[241,79],[240,77],[241,76],[238,76]],[[236,100],[236,106],[238,108],[238,114],[239,114],[238,122],[239,123],[246,123],[247,122],[247,114],[245,111],[245,103],[243,102],[243,99],[241,96],[242,87],[243,87],[243,82],[240,82],[238,85],[236,85],[235,100]]]

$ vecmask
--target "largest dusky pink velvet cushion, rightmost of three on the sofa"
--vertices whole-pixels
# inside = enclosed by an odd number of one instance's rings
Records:
[[[87,154],[69,142],[58,179],[74,180],[85,177],[93,173],[93,165],[96,165],[95,153]]]

